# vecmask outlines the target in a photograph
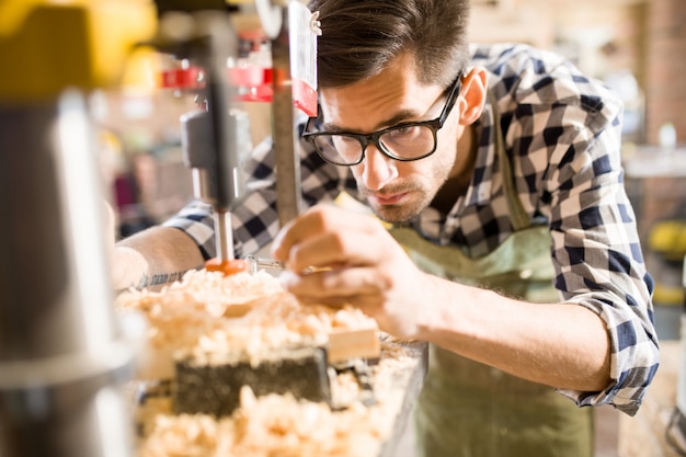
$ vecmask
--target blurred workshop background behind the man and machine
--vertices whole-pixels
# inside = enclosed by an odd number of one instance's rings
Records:
[[[559,52],[625,101],[627,192],[649,270],[662,365],[637,418],[598,409],[596,457],[677,456],[665,437],[674,410],[686,253],[686,9],[684,0],[475,0],[472,42],[525,42]],[[244,19],[244,28],[255,23]],[[255,48],[250,58],[259,58]],[[122,237],[157,224],[193,197],[180,116],[193,93],[160,90],[158,56],[132,62],[122,88],[93,96]],[[270,106],[248,102],[251,141],[270,134]],[[405,457],[411,456],[408,452]],[[400,456],[399,456],[400,457]]]

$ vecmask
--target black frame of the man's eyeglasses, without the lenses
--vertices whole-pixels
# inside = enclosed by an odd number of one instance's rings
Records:
[[[381,151],[381,153],[384,153],[385,156],[393,160],[398,160],[400,162],[412,162],[415,160],[424,159],[436,151],[436,148],[438,146],[438,137],[436,136],[436,133],[443,127],[446,119],[448,118],[448,115],[453,111],[453,107],[455,106],[455,103],[457,102],[457,98],[460,93],[461,85],[462,85],[462,72],[460,71],[457,75],[457,78],[455,79],[455,81],[448,88],[449,92],[448,92],[448,96],[446,100],[446,104],[443,107],[443,111],[441,111],[441,114],[438,115],[438,117],[431,119],[431,121],[404,122],[404,123],[393,125],[391,127],[386,127],[380,130],[373,132],[370,134],[359,134],[356,132],[307,132],[309,129],[310,123],[316,122],[318,119],[318,117],[310,117],[307,121],[307,124],[305,125],[305,133],[302,134],[302,138],[315,147],[315,150],[317,151],[319,157],[321,157],[324,161],[332,163],[334,165],[353,167],[358,163],[362,163],[362,161],[365,159],[365,151],[367,150],[367,146],[369,145],[376,146],[377,149]],[[408,128],[408,127],[428,127],[432,130],[432,134],[434,136],[434,147],[432,148],[432,150],[422,156],[412,157],[412,158],[403,158],[403,157],[398,157],[391,151],[389,151],[388,149],[386,149],[384,144],[379,141],[379,138],[382,135],[392,130]],[[362,153],[359,155],[359,159],[352,163],[339,163],[324,157],[323,152],[320,151],[319,146],[317,146],[317,142],[316,142],[316,138],[318,136],[323,136],[323,135],[329,135],[329,136],[339,135],[339,136],[355,138],[357,141],[359,141],[359,145],[362,147]]]

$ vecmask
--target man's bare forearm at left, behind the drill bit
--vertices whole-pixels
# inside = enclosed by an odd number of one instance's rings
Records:
[[[172,283],[202,265],[203,256],[191,237],[175,228],[152,227],[116,244],[113,286],[122,290]]]

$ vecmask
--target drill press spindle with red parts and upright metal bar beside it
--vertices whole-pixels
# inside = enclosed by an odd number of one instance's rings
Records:
[[[188,8],[191,3],[158,3],[167,14],[161,16],[155,45],[183,62],[163,75],[163,85],[196,91],[205,107],[181,119],[184,159],[193,171],[195,196],[211,205],[215,219],[217,256],[205,266],[227,274],[244,271],[249,265],[233,259],[231,209],[240,204],[243,192],[240,158],[249,152],[245,138],[250,134],[247,115],[235,106],[236,100],[271,102],[276,208],[283,226],[299,213],[294,106],[310,116],[317,113],[316,15],[297,1],[275,5],[256,1],[271,65],[251,68],[236,65],[241,44],[230,21],[243,10],[250,12],[249,7],[243,4],[228,13],[224,7],[198,13]],[[181,16],[186,24],[184,34],[179,33]]]

